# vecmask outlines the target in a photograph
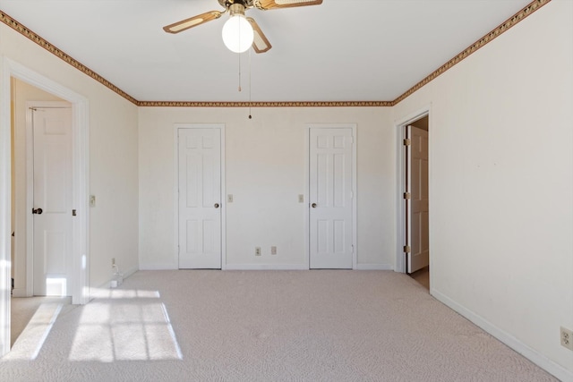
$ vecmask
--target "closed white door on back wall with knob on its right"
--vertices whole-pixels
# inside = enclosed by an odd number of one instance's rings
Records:
[[[221,131],[179,129],[179,268],[221,267]]]

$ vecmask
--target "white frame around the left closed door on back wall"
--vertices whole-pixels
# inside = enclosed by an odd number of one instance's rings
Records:
[[[225,123],[175,123],[173,125],[173,151],[174,151],[174,225],[173,225],[173,253],[175,269],[179,266],[179,129],[220,129],[221,131],[221,270],[227,269],[227,198],[225,197]]]

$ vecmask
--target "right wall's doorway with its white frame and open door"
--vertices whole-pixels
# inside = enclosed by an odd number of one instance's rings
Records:
[[[430,290],[429,112],[399,124],[400,213],[397,270]],[[399,266],[399,267],[398,267]]]

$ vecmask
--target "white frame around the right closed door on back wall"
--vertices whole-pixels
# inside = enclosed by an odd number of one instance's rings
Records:
[[[311,166],[311,140],[310,132],[311,129],[352,129],[352,243],[354,245],[354,251],[352,253],[352,268],[356,269],[356,262],[358,258],[358,242],[356,241],[356,123],[307,123],[306,129],[304,130],[304,147],[306,148],[306,153],[304,156],[304,258],[306,262],[307,269],[311,268],[311,253],[310,253],[310,235],[311,235],[311,225],[310,225],[310,189],[311,189],[311,179],[310,179],[310,166]]]

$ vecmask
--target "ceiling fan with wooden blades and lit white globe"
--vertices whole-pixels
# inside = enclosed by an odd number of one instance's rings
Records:
[[[272,46],[256,21],[252,17],[244,16],[246,11],[251,8],[267,11],[294,6],[319,5],[322,4],[322,0],[218,0],[218,4],[225,10],[201,13],[192,18],[169,24],[163,27],[163,30],[167,33],[179,33],[229,13],[229,20],[223,27],[225,45],[235,53],[244,52],[249,47],[252,47],[256,53],[265,53]]]

